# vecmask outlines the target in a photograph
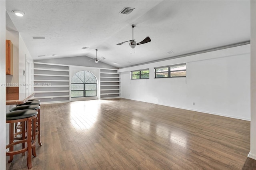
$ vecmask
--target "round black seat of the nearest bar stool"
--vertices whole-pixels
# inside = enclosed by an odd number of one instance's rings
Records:
[[[28,110],[28,109],[12,111],[12,112],[6,113],[6,121],[24,119],[24,118],[35,116],[37,114],[38,114],[37,111]]]

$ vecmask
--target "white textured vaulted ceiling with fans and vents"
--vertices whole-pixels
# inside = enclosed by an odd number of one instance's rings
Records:
[[[135,10],[119,14],[126,6]],[[12,10],[25,15],[17,17]],[[250,1],[7,0],[6,11],[34,60],[95,58],[97,48],[98,57],[106,58],[102,62],[121,68],[250,41]],[[136,41],[149,36],[151,42],[135,50],[128,43],[116,45],[132,40],[131,24]]]

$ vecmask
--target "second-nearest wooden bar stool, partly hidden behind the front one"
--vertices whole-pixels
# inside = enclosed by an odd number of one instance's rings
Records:
[[[17,106],[17,107],[13,107],[12,109],[10,109],[10,112],[12,111],[18,111],[18,110],[25,110],[25,109],[30,109],[30,110],[36,110],[38,112],[37,115],[37,121],[36,121],[36,135],[38,135],[38,144],[40,146],[42,146],[41,140],[40,140],[40,106],[39,105],[22,105],[22,106]],[[20,129],[20,132],[17,132],[17,129]],[[18,123],[15,123],[15,133],[14,133],[14,139],[20,139],[21,136],[17,137],[18,135],[22,134],[23,131],[23,126],[22,123],[20,123],[18,125]]]

